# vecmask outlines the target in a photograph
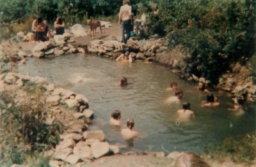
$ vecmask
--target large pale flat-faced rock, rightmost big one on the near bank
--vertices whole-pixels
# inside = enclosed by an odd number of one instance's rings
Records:
[[[91,152],[96,159],[109,153],[109,143],[95,142],[91,145]]]

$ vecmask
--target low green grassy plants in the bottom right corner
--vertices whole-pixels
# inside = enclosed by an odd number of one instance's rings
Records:
[[[212,158],[230,157],[235,162],[250,163],[256,155],[256,134],[246,134],[243,138],[226,138],[224,142],[211,151]]]

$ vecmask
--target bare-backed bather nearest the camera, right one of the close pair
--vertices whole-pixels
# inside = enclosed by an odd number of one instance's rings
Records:
[[[140,134],[136,131],[132,131],[132,128],[134,127],[134,120],[133,119],[127,119],[126,122],[127,128],[122,129],[121,134],[125,140],[133,140],[133,138],[137,138]]]

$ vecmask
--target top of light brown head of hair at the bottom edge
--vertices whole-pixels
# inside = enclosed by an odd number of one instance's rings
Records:
[[[189,167],[209,167],[209,164],[197,156],[193,152],[185,152],[181,154],[175,161],[174,167],[189,166]]]

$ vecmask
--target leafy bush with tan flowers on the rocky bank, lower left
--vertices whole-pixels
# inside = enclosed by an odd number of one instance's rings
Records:
[[[60,122],[47,122],[49,112],[40,103],[39,96],[35,101],[19,106],[14,103],[13,98],[7,92],[0,96],[1,166],[23,164],[28,163],[31,158],[37,159],[39,152],[57,145],[59,134],[62,133]]]

